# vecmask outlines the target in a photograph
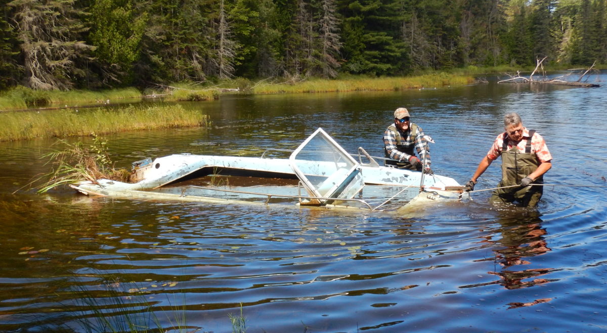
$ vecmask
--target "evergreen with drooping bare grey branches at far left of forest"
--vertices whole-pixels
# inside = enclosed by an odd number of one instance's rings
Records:
[[[73,0],[14,0],[12,21],[21,43],[24,84],[33,89],[69,89],[85,71],[94,47],[81,41],[86,28]]]

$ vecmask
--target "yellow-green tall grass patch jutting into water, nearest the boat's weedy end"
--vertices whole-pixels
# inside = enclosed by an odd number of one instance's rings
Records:
[[[208,116],[181,105],[129,105],[126,108],[60,109],[0,113],[0,141],[71,137],[208,125]]]

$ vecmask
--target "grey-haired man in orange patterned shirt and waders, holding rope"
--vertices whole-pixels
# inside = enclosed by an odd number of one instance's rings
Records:
[[[478,177],[501,156],[500,188],[493,191],[490,201],[518,202],[523,207],[535,207],[543,186],[534,184],[544,184],[543,175],[552,168],[552,156],[544,138],[535,130],[524,128],[518,114],[512,112],[504,116],[504,129],[506,132],[497,136],[487,156],[478,164],[466,184],[466,191],[472,191]]]

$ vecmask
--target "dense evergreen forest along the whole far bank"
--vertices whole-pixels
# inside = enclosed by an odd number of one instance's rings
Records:
[[[0,1],[0,89],[607,62],[607,0]]]

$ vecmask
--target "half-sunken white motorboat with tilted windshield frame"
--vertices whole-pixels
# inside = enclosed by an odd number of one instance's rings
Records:
[[[98,179],[70,186],[83,194],[131,199],[370,211],[461,194],[461,185],[450,177],[379,165],[378,160],[384,159],[363,148],[347,153],[319,128],[293,151],[266,149],[260,157],[148,158],[132,163],[129,183]]]

